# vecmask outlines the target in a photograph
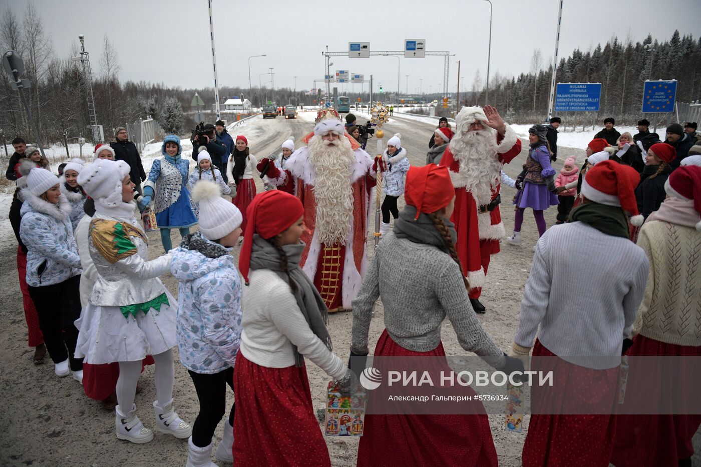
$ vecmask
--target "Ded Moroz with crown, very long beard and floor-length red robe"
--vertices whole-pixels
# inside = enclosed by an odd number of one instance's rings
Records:
[[[304,142],[287,159],[285,170],[271,166],[266,176],[285,191],[292,183],[304,205],[301,239],[306,248],[299,264],[329,312],[351,309],[367,270],[373,159],[346,135],[334,109],[319,112],[314,133]]]

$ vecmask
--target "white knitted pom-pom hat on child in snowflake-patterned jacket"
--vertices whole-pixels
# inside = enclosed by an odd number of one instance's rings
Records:
[[[243,222],[243,216],[236,205],[221,196],[215,182],[200,180],[192,189],[192,200],[199,203],[200,232],[205,238],[215,241],[223,238]]]

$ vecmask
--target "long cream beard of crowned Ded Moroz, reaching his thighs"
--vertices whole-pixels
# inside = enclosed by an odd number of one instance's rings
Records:
[[[308,161],[315,171],[315,233],[325,245],[346,243],[353,216],[351,172],[355,154],[345,136],[329,146],[321,135],[309,140]]]

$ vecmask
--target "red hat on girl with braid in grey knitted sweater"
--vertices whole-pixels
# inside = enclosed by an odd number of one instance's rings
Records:
[[[409,167],[404,201],[416,208],[416,217],[421,212],[429,214],[445,208],[455,196],[453,182],[447,167],[435,164]]]

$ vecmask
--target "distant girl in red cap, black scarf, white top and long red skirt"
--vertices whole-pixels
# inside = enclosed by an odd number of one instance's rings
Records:
[[[248,149],[248,140],[245,136],[238,135],[236,147],[229,156],[229,162],[226,163],[226,176],[229,180],[229,187],[231,187],[231,203],[234,203],[243,214],[242,235],[246,233],[248,205],[256,196],[253,174],[258,174],[257,164],[257,159]]]

